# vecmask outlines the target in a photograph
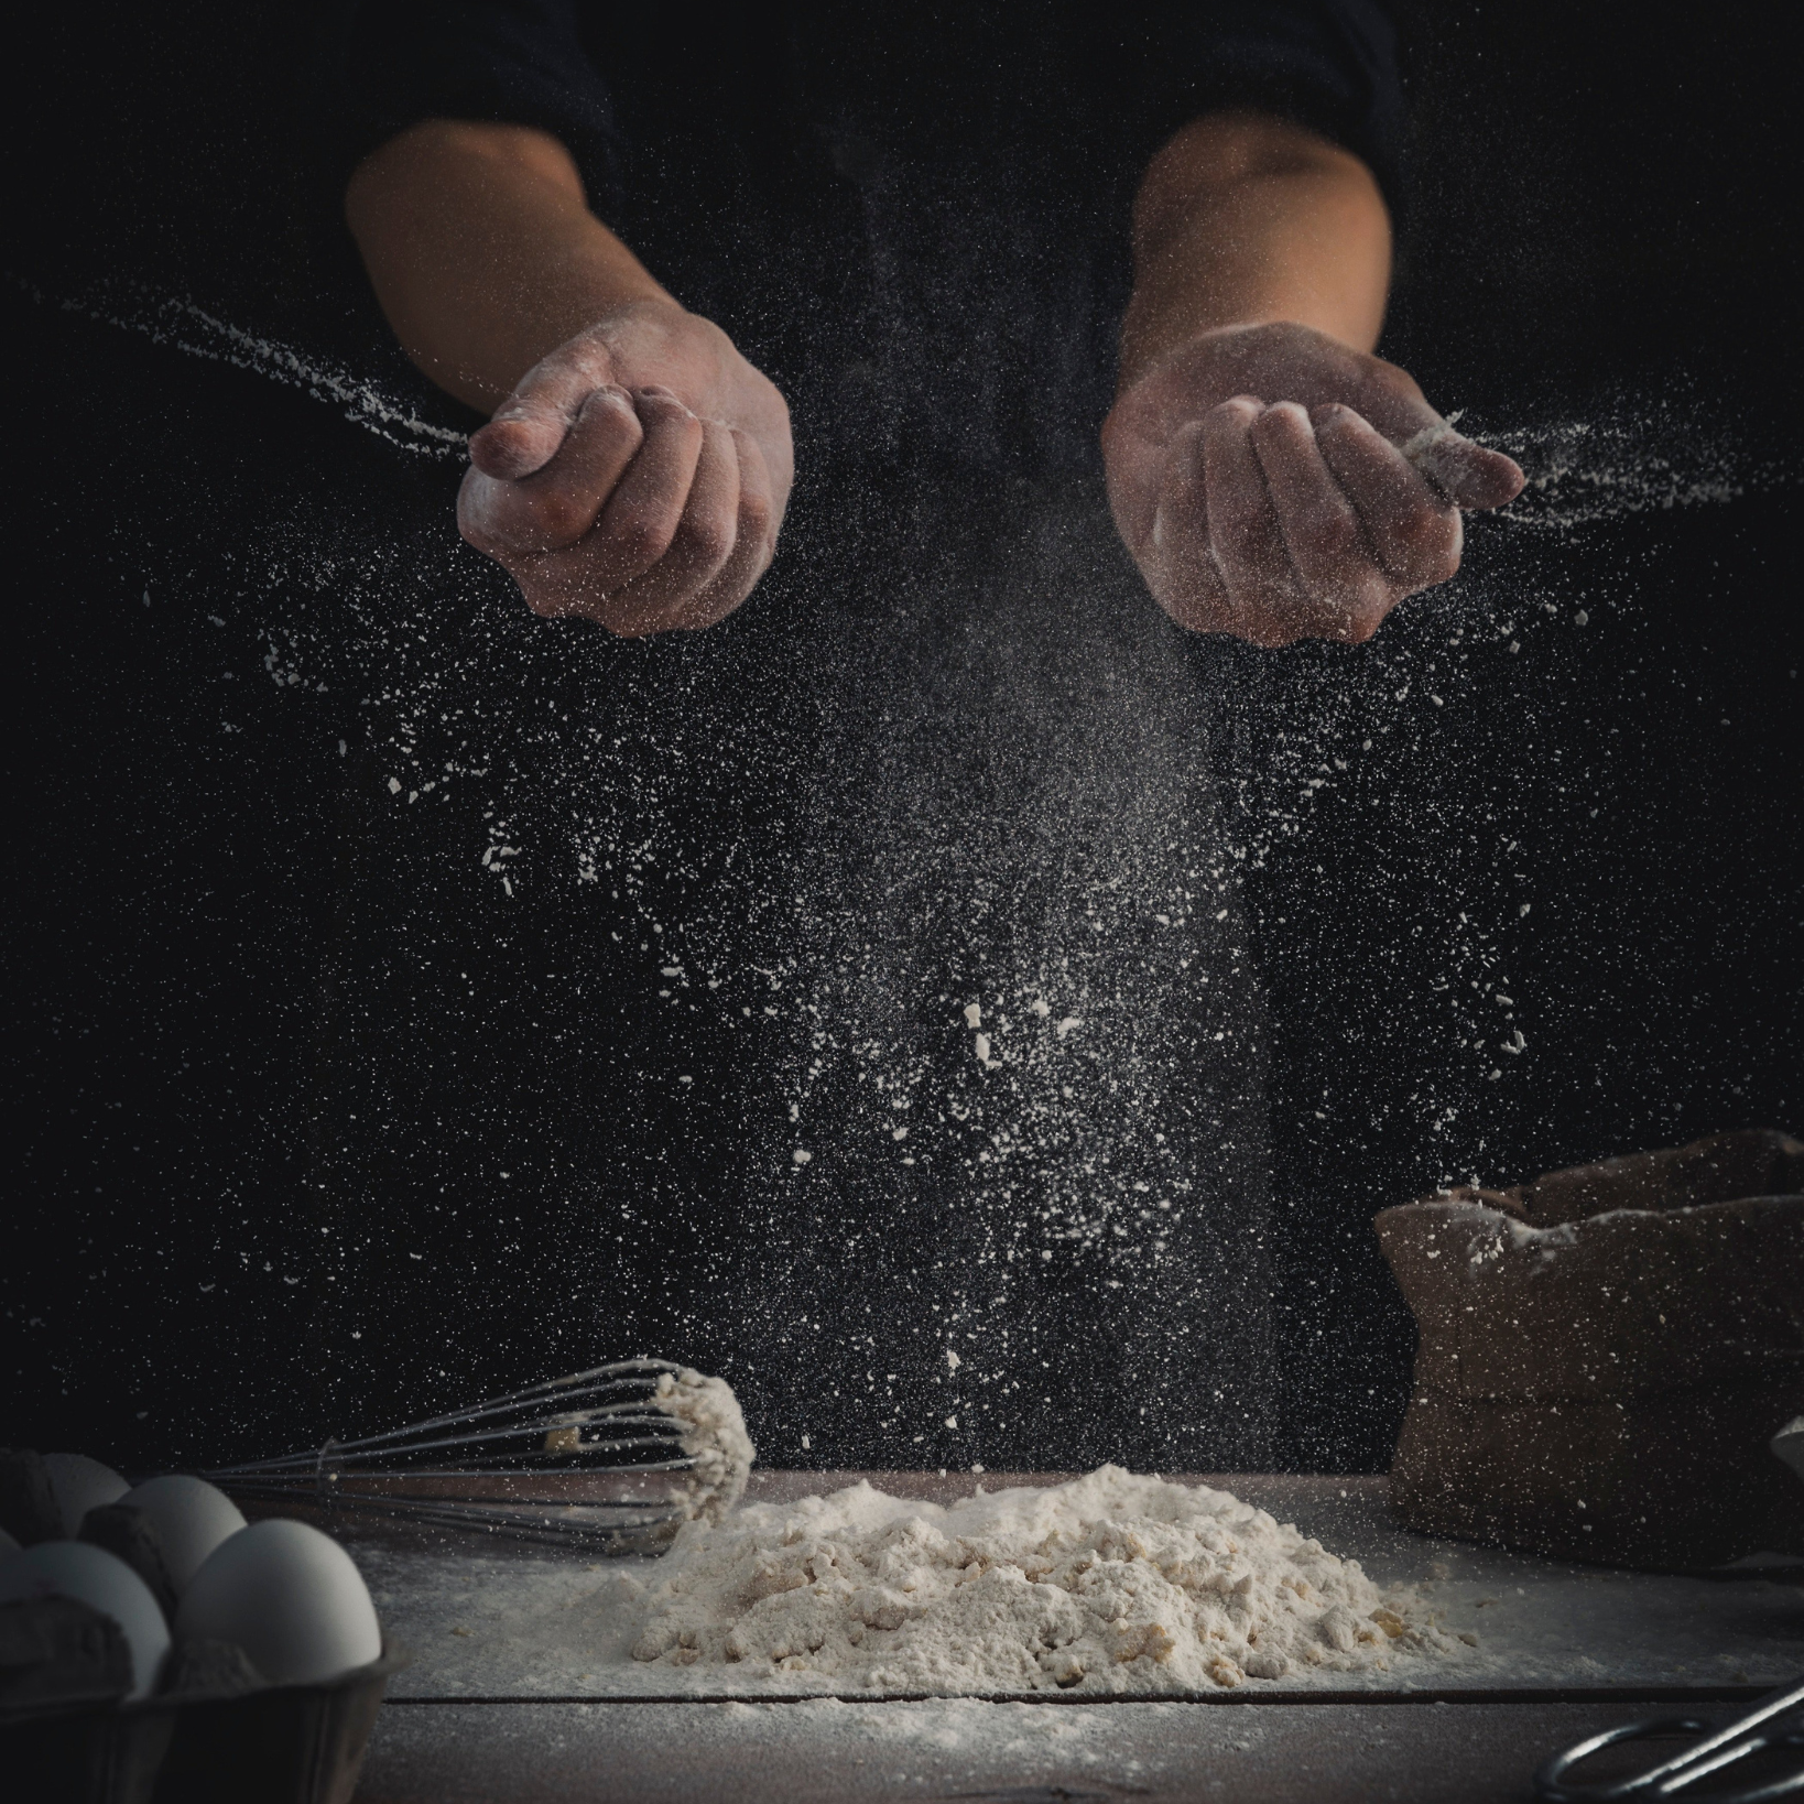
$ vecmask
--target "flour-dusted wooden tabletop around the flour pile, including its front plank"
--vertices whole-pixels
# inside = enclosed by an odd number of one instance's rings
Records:
[[[1054,1483],[1068,1474],[989,1474]],[[752,1499],[868,1477],[947,1503],[969,1474],[759,1472]],[[352,1532],[390,1636],[361,1804],[612,1799],[1526,1799],[1551,1752],[1634,1716],[1752,1699],[1804,1671],[1804,1566],[1672,1577],[1429,1541],[1385,1481],[1194,1476],[1295,1521],[1479,1645],[1454,1665],[1248,1681],[1196,1699],[799,1696],[806,1681],[633,1661],[622,1569]],[[1640,1708],[1638,1708],[1640,1707]]]

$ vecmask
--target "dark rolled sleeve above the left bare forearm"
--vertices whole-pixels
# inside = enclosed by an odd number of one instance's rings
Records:
[[[538,126],[575,157],[594,204],[619,188],[613,105],[568,0],[348,0],[308,61],[316,173],[334,195],[420,119]]]

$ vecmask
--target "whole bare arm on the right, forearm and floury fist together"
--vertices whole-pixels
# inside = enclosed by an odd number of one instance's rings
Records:
[[[1122,538],[1185,626],[1369,639],[1454,574],[1459,507],[1521,489],[1371,355],[1389,276],[1371,171],[1302,126],[1212,114],[1149,164],[1102,446]]]

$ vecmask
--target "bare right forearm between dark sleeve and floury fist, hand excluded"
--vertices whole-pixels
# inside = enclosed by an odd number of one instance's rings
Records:
[[[1263,114],[1210,114],[1147,166],[1120,384],[1221,327],[1293,321],[1369,352],[1391,218],[1358,157]]]

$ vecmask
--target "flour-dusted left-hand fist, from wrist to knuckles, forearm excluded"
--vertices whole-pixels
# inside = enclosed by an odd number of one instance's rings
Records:
[[[716,325],[633,301],[534,364],[469,440],[458,527],[543,615],[713,626],[769,566],[788,408]]]

